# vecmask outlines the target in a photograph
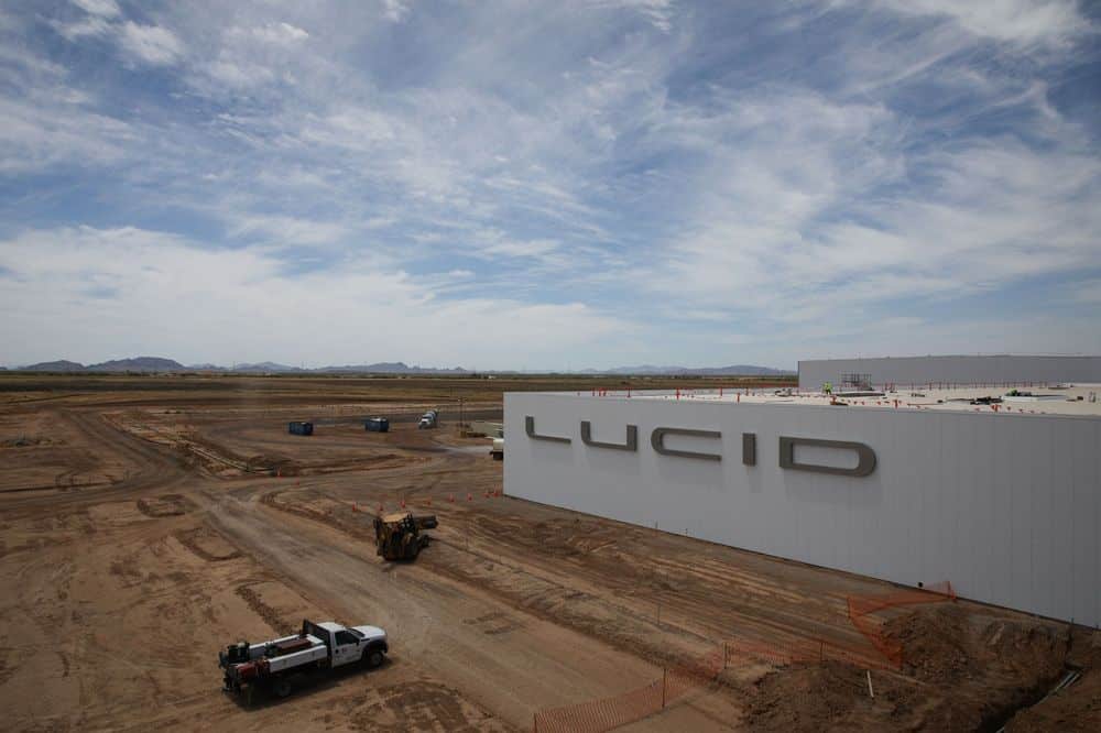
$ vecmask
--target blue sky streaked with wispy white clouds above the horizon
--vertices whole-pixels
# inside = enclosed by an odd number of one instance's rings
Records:
[[[1101,353],[1101,6],[0,4],[0,364]]]

